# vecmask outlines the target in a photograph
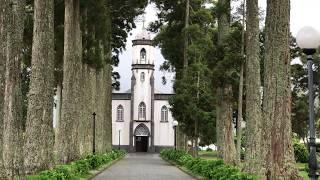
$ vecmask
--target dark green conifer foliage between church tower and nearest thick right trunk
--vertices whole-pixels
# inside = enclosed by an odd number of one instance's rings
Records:
[[[208,57],[213,48],[211,41],[215,24],[203,0],[190,0],[190,22],[185,28],[185,2],[153,0],[160,9],[159,21],[152,23],[151,31],[159,31],[155,44],[166,59],[161,70],[175,71],[175,95],[170,99],[173,117],[189,137],[200,137],[202,144],[215,141],[215,114],[212,102],[212,84]],[[167,22],[165,25],[164,22]],[[188,68],[183,72],[184,39],[188,34]],[[199,80],[199,83],[198,83]],[[166,80],[163,79],[163,82]],[[190,96],[192,94],[192,96]],[[198,96],[197,96],[198,95]],[[198,133],[195,124],[198,122]]]

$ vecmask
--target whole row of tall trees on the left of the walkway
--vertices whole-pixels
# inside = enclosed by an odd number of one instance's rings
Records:
[[[111,91],[119,85],[111,65],[118,63],[127,32],[146,4],[0,1],[1,179],[91,153],[93,112],[96,152],[111,150]]]

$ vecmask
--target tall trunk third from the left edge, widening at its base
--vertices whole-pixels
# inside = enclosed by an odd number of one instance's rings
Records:
[[[60,163],[79,157],[79,81],[81,72],[81,36],[79,0],[65,1],[64,65],[62,114],[59,123],[57,152]]]

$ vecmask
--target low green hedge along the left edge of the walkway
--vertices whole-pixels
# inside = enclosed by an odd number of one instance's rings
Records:
[[[26,180],[76,180],[89,175],[89,171],[97,169],[125,155],[125,151],[113,150],[105,154],[87,155],[68,165],[58,165],[51,170],[42,171]]]

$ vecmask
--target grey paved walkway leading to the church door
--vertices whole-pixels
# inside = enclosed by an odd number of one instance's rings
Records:
[[[159,154],[129,153],[94,180],[191,180],[183,171],[163,161]]]

